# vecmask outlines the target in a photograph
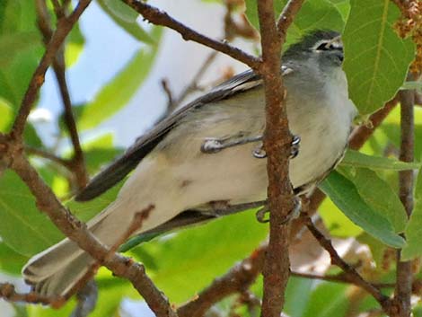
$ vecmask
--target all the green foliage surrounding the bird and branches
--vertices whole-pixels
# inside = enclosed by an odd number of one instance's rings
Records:
[[[246,0],[245,3],[249,21],[258,28],[256,0]],[[136,22],[137,14],[118,0],[98,0],[98,4],[116,22],[116,27],[123,28],[134,39],[148,46],[140,48],[92,100],[74,106],[77,126],[84,132],[94,131],[104,120],[110,119],[127,105],[151,74],[163,37],[161,28],[141,27]],[[277,1],[277,13],[284,4],[286,1]],[[363,115],[362,120],[365,120],[365,115],[382,107],[400,89],[414,57],[412,41],[400,39],[393,29],[399,16],[399,9],[387,0],[308,0],[288,33],[287,44],[314,29],[343,32],[344,69],[350,97]],[[33,1],[0,2],[1,132],[10,128],[31,74],[43,53],[36,19]],[[84,45],[84,34],[75,28],[66,40],[67,67],[78,63]],[[66,142],[68,135],[61,117],[57,118],[57,127],[60,131],[57,142]],[[415,155],[420,162],[420,108],[416,109],[415,134]],[[31,123],[25,131],[25,143],[60,156],[71,155],[66,148],[46,145]],[[399,146],[400,111],[396,109],[365,144],[363,154],[349,152],[338,170],[321,184],[321,189],[330,197],[321,206],[324,224],[333,236],[353,237],[357,242],[369,246],[372,253],[368,254],[372,255],[366,260],[373,266],[371,277],[386,282],[391,281],[395,268],[383,265],[382,259],[385,260],[385,254],[391,247],[404,247],[406,259],[422,254],[422,243],[419,242],[422,228],[422,174],[419,174],[416,187],[415,211],[409,221],[397,196],[397,172],[418,169],[420,163],[398,163],[396,154]],[[122,151],[113,145],[111,135],[84,141],[83,148],[91,175]],[[92,202],[76,203],[69,199],[72,188],[63,167],[36,155],[31,157],[48,185],[84,220],[101,211],[117,194],[118,188],[111,189]],[[31,255],[62,238],[48,218],[40,214],[34,201],[29,189],[13,172],[5,172],[0,178],[0,269],[6,274],[19,275],[22,265]],[[399,235],[404,232],[408,242]],[[257,223],[253,211],[248,211],[155,238],[128,251],[128,254],[145,264],[154,282],[171,298],[171,302],[180,304],[195,296],[213,278],[224,274],[237,260],[250,254],[266,235],[267,227]],[[115,316],[123,297],[137,298],[127,281],[111,277],[105,269],[101,269],[97,281],[100,299],[92,316]],[[252,291],[260,296],[260,280],[252,286]],[[352,308],[358,313],[376,307],[375,302],[366,295],[356,302],[351,296],[352,291],[356,291],[353,286],[293,277],[289,281],[286,296],[286,313],[292,317],[339,317],[354,316],[350,314]],[[226,312],[233,308],[235,302],[235,298],[228,298],[219,304],[218,309]],[[71,301],[60,311],[40,306],[17,307],[16,315],[67,316],[73,305],[75,303]],[[251,314],[242,305],[234,310],[242,316]],[[416,305],[415,316],[422,315],[421,311],[422,308]]]

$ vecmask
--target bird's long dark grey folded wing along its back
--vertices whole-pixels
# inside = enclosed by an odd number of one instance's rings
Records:
[[[284,66],[282,74],[285,75],[290,68]],[[86,201],[96,198],[106,190],[121,181],[129,172],[136,168],[136,165],[158,145],[179,121],[190,110],[198,109],[203,105],[221,101],[233,96],[236,93],[245,92],[262,84],[259,75],[248,70],[239,75],[233,76],[230,80],[216,86],[207,94],[190,102],[185,107],[175,111],[166,119],[158,123],[151,131],[136,139],[134,145],[130,146],[116,161],[110,163],[104,170],[98,173],[92,181],[75,197],[78,201]]]

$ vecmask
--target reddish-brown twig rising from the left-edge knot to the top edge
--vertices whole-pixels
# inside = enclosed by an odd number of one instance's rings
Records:
[[[48,66],[56,57],[56,53],[66,39],[67,34],[69,34],[72,30],[73,26],[78,21],[81,14],[84,13],[84,10],[91,1],[92,0],[80,0],[73,13],[71,13],[68,17],[63,17],[57,22],[57,30],[51,36],[51,40],[48,42],[44,56],[41,58],[39,66],[37,66],[37,69],[32,75],[31,82],[23,97],[18,115],[13,122],[12,131],[14,138],[22,140],[22,133],[26,120],[28,119],[32,105],[36,100],[37,93],[39,92],[41,85],[44,83]]]

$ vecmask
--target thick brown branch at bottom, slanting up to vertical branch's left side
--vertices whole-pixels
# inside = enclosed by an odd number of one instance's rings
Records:
[[[179,316],[204,316],[213,304],[224,297],[247,290],[262,269],[266,248],[266,246],[260,246],[248,258],[225,273],[223,277],[216,278],[210,286],[199,293],[198,298],[180,306],[177,311]]]

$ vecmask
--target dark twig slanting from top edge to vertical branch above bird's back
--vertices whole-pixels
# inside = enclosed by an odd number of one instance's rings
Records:
[[[149,22],[152,22],[155,25],[163,25],[179,32],[183,40],[193,40],[207,46],[208,48],[214,48],[215,50],[233,57],[253,69],[258,69],[260,66],[259,58],[253,57],[244,52],[242,49],[235,48],[225,42],[210,39],[207,36],[190,29],[179,21],[173,19],[169,14],[150,4],[145,4],[144,2],[137,0],[121,1],[135,9],[137,13],[141,14]]]

